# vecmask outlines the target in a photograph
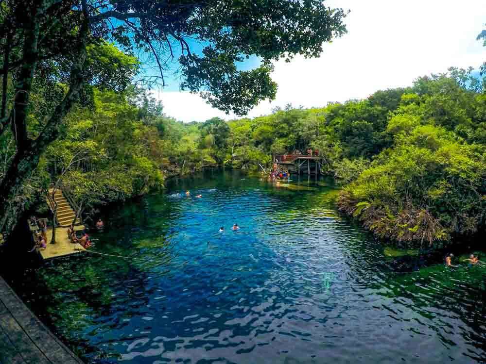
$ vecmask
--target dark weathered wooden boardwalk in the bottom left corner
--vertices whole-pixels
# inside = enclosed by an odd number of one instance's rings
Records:
[[[0,277],[0,364],[83,364]]]

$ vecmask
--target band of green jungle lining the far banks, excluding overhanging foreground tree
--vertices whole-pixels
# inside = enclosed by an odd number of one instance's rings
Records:
[[[414,245],[473,237],[486,221],[484,86],[472,69],[451,68],[363,100],[204,123],[166,116],[133,86],[95,88],[92,105],[66,116],[22,198],[34,203],[61,178],[89,214],[161,189],[174,174],[218,165],[256,171],[273,154],[312,147],[322,173],[343,186],[338,207],[380,237]]]

